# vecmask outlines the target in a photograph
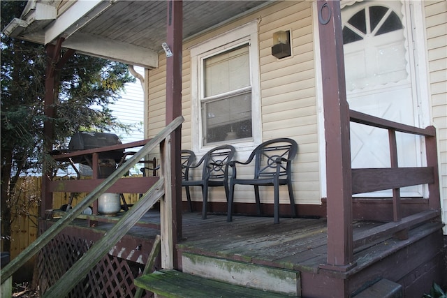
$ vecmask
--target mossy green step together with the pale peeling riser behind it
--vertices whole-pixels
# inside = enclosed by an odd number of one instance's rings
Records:
[[[162,269],[136,278],[156,297],[300,297],[300,272],[196,253],[182,253],[182,272]]]

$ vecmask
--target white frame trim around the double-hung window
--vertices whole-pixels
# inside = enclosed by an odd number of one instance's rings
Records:
[[[259,79],[259,46],[258,46],[258,21],[249,22],[241,27],[223,33],[215,38],[191,47],[191,144],[196,154],[205,154],[206,151],[216,145],[203,145],[203,132],[200,112],[200,90],[203,82],[201,77],[201,65],[204,57],[218,54],[237,45],[249,43],[250,51],[250,76],[251,76],[251,126],[253,140],[232,140],[230,144],[236,149],[254,149],[262,140],[261,125],[261,83]]]

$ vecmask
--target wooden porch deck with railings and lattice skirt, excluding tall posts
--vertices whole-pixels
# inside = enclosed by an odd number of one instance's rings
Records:
[[[152,250],[156,234],[161,234],[161,245],[165,247],[161,249],[161,265],[154,269],[171,269],[173,265],[166,265],[170,262],[175,264],[175,269],[185,274],[202,275],[206,279],[223,278],[227,283],[244,287],[247,285],[244,278],[253,282],[253,271],[274,271],[276,273],[273,275],[288,274],[288,277],[265,285],[272,276],[266,277],[263,272],[263,278],[256,281],[257,286],[293,297],[352,297],[378,281],[390,281],[397,288],[402,288],[400,291],[404,292],[405,297],[420,297],[430,290],[427,286],[430,287],[432,281],[438,281],[443,276],[444,271],[439,192],[437,179],[434,178],[437,177],[437,170],[434,170],[437,158],[436,154],[431,155],[436,152],[435,134],[431,128],[411,128],[350,112],[351,121],[388,128],[391,132],[424,135],[427,161],[431,165],[420,168],[349,169],[346,175],[351,174],[352,177],[351,194],[397,188],[393,198],[387,202],[363,202],[353,199],[352,195],[349,200],[344,197],[351,206],[350,221],[333,217],[332,208],[336,205],[330,198],[324,199],[321,207],[322,218],[326,219],[281,218],[279,225],[274,225],[270,217],[237,216],[233,223],[228,223],[226,216],[210,215],[210,219],[203,220],[198,214],[181,213],[177,221],[177,213],[173,215],[174,209],[170,205],[175,201],[170,200],[168,195],[169,186],[172,185],[170,176],[163,173],[172,173],[168,170],[172,165],[168,154],[169,140],[170,133],[182,122],[182,117],[179,117],[152,140],[145,141],[145,146],[129,161],[117,167],[107,179],[82,181],[85,187],[82,189],[81,181],[45,179],[47,211],[53,209],[53,192],[82,190],[89,191],[89,195],[61,218],[43,221],[42,237],[22,253],[22,259],[41,250],[38,268],[41,270],[39,276],[45,276],[39,278],[45,283],[41,285],[45,297],[60,297],[61,293],[89,297],[91,292],[95,293],[93,297],[133,297],[133,281],[149,260],[149,251]],[[394,137],[395,134],[390,133],[390,144],[395,143]],[[119,148],[133,145],[122,144]],[[130,167],[158,145],[161,152],[160,177],[123,178]],[[89,151],[89,154],[95,156],[99,151],[115,149],[116,146],[103,147]],[[77,151],[75,154],[85,153]],[[149,178],[154,184],[152,187]],[[133,180],[138,183],[131,182]],[[432,189],[430,198],[400,198],[398,188],[414,184],[428,184]],[[123,187],[128,190],[131,188],[131,193],[145,194],[133,208],[123,212],[121,218],[81,214],[90,204],[93,204],[95,210],[96,199],[104,191],[116,188],[118,192],[126,193]],[[160,213],[147,213],[163,195]],[[384,208],[386,205],[388,207]],[[272,208],[269,205],[265,207],[267,210]],[[298,208],[299,216],[309,216],[300,211],[300,205],[295,207]],[[176,209],[185,209],[182,202],[178,202]],[[218,209],[219,204],[211,208],[212,211]],[[54,213],[54,209],[52,212],[50,217],[61,215]],[[364,221],[358,221],[359,218]],[[78,225],[72,225],[70,222],[73,220]],[[112,226],[113,223],[117,224]],[[349,231],[349,234],[339,234],[344,230]],[[171,237],[175,237],[175,241],[171,242]],[[335,249],[337,247],[346,254],[342,265],[329,262],[331,258],[339,262],[337,254],[340,251]],[[14,271],[22,259],[17,258],[7,269]],[[52,259],[57,262],[47,262]],[[128,260],[133,262],[132,266],[127,264]],[[235,272],[227,269],[241,264],[244,269],[241,269],[240,278],[234,278]],[[58,269],[57,272],[54,268]],[[149,268],[149,272],[152,269]],[[129,272],[132,274],[129,275]],[[69,286],[68,281],[72,283]],[[283,292],[283,286],[277,288],[278,284],[282,285],[282,281],[288,283],[286,292]],[[77,284],[80,284],[80,288],[74,288]]]

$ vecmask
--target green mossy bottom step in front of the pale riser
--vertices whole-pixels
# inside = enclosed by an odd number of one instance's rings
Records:
[[[230,285],[221,281],[186,274],[173,269],[161,269],[135,278],[137,287],[166,298],[275,298],[290,297],[263,290]]]

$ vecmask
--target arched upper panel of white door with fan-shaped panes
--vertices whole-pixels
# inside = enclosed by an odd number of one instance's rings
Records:
[[[343,27],[347,91],[408,77],[400,17],[386,6],[362,6]]]

